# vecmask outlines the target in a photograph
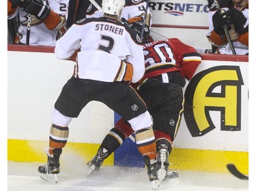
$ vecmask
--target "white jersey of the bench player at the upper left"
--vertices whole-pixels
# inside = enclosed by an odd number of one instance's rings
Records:
[[[51,11],[56,14],[68,16],[68,2],[69,0],[48,0],[48,5]],[[14,14],[10,15],[8,19],[14,18],[18,14],[20,20],[20,27],[18,28],[16,43],[26,44],[27,39],[27,25],[29,22],[29,15],[20,7],[17,8]],[[65,31],[66,32],[66,31]],[[38,20],[31,15],[31,26],[29,35],[29,45],[31,46],[55,46],[56,40],[61,37],[62,31],[49,30],[42,20]]]

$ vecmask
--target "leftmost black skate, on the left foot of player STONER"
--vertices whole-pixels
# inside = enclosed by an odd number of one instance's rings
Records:
[[[41,173],[40,177],[46,181],[58,181],[57,174],[59,173],[59,156],[61,155],[62,149],[56,148],[53,150],[53,154],[49,154],[48,149],[45,149],[47,154],[47,163],[43,166],[38,167],[38,172]]]

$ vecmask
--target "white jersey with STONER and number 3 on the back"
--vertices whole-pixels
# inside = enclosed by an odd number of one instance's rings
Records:
[[[79,20],[56,42],[55,56],[67,59],[79,48],[79,78],[135,83],[143,77],[145,66],[139,37],[117,20],[106,17]]]

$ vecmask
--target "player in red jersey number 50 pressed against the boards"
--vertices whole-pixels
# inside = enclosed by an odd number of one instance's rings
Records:
[[[143,23],[137,21],[130,25],[140,35]],[[154,41],[147,26],[143,33],[143,52],[145,75],[139,83],[132,86],[136,87],[152,116],[157,162],[168,172],[172,142],[177,135],[184,110],[185,78],[190,80],[193,77],[201,63],[201,55],[195,48],[176,38]],[[100,169],[104,159],[117,150],[132,133],[134,131],[129,122],[121,118],[104,137],[96,156],[88,162],[89,173]],[[147,156],[143,158],[148,166]],[[172,173],[166,174],[163,179],[172,176]]]

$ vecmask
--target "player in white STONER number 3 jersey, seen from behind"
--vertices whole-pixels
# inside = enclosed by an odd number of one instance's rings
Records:
[[[42,179],[57,181],[59,156],[68,141],[68,125],[87,103],[100,101],[126,119],[136,132],[139,152],[150,158],[147,175],[153,186],[160,185],[156,165],[156,142],[152,120],[145,103],[129,86],[145,72],[140,37],[119,20],[124,0],[103,0],[103,17],[80,20],[68,29],[55,46],[55,56],[71,59],[76,50],[74,75],[63,86],[55,102],[47,164],[38,171]]]

